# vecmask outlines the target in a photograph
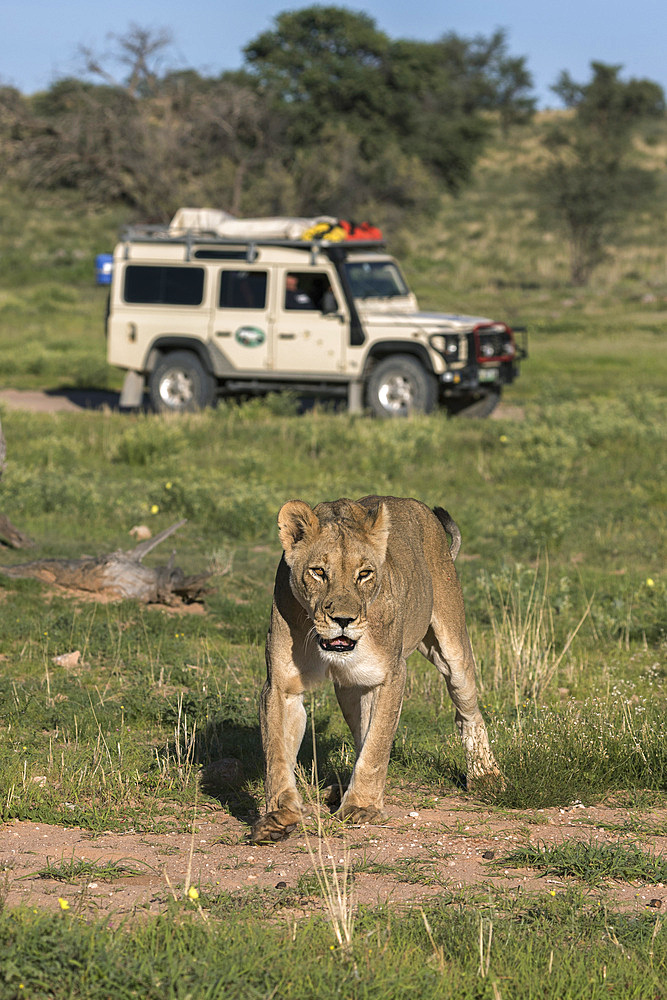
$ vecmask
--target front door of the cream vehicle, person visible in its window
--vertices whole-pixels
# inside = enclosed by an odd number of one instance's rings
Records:
[[[343,374],[350,323],[334,272],[284,269],[277,278],[273,328],[276,370]]]

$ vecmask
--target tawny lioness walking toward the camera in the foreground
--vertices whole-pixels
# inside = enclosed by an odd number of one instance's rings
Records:
[[[253,841],[286,837],[306,811],[294,776],[306,727],[303,695],[326,677],[334,682],[357,753],[337,815],[355,823],[386,818],[389,754],[405,661],[415,649],[447,683],[468,782],[499,779],[477,704],[454,569],[461,534],[449,514],[396,497],[336,500],[314,510],[290,500],[278,514],[278,529],[284,554],[260,706],[267,811],[253,827]]]

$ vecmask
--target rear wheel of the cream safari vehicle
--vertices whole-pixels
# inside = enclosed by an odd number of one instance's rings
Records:
[[[156,413],[193,413],[215,399],[215,380],[191,351],[170,351],[148,379],[151,406]]]

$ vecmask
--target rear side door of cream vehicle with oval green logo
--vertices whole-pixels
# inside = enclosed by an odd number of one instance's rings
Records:
[[[239,372],[271,367],[269,272],[245,263],[220,268],[211,341]]]

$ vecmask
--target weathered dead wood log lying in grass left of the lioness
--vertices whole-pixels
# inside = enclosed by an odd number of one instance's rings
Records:
[[[150,568],[142,560],[157,545],[185,524],[185,519],[165,528],[155,538],[141,542],[127,552],[84,556],[81,559],[37,559],[19,566],[0,567],[9,577],[36,577],[71,590],[85,590],[106,597],[129,598],[145,604],[191,603],[201,600],[211,573],[186,576],[174,566],[174,555],[166,566]]]

